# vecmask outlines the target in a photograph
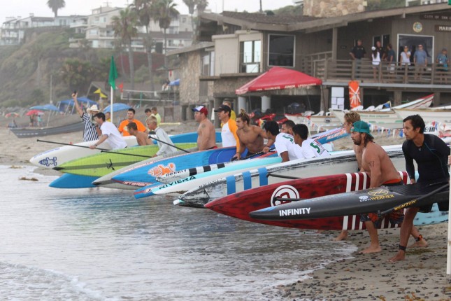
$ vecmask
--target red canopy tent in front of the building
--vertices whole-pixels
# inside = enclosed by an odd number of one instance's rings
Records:
[[[306,73],[282,67],[273,67],[249,83],[236,89],[235,93],[241,95],[248,92],[293,89],[296,87],[321,84],[322,80],[320,78],[308,76]]]

